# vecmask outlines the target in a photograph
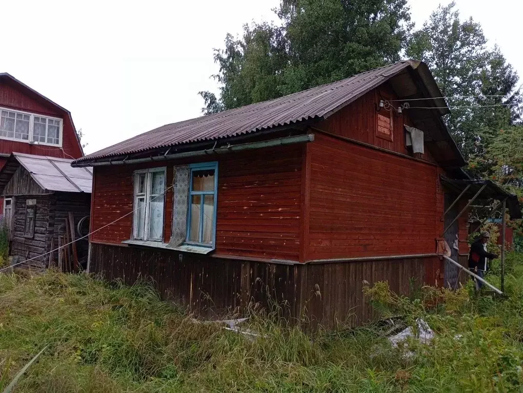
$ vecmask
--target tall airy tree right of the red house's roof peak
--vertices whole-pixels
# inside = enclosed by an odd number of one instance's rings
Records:
[[[480,24],[460,20],[454,7],[439,6],[412,34],[406,54],[429,65],[449,97],[449,129],[465,158],[474,159],[486,154],[500,129],[519,121],[519,78],[499,48],[488,49]],[[484,170],[476,167],[474,172]]]

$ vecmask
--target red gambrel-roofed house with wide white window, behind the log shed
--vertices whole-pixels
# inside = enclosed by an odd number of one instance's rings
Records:
[[[68,110],[13,76],[0,73],[0,170],[11,153],[60,158],[84,155]],[[0,198],[0,212],[10,203]]]

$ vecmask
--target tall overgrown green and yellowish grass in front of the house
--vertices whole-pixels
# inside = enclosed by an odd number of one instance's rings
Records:
[[[249,341],[195,323],[146,283],[0,274],[0,374],[8,359],[13,376],[49,345],[15,391],[521,391],[523,257],[510,255],[507,270],[506,299],[470,288],[425,288],[413,299],[369,289],[384,313],[422,317],[437,333],[402,349],[378,325],[304,333],[256,316],[249,329],[260,336]]]

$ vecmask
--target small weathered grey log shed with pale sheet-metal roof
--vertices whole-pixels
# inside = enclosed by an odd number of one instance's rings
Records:
[[[93,171],[73,168],[71,161],[13,153],[0,170],[0,195],[13,263],[27,260],[20,266],[41,270],[58,265],[64,269],[65,260],[69,261],[64,255],[67,250],[55,249],[65,244],[66,238],[81,237],[82,228],[88,229]],[[84,225],[79,225],[81,222]],[[72,228],[73,233],[66,233],[66,228]],[[85,264],[87,240],[77,242],[75,248],[76,255],[70,257]]]

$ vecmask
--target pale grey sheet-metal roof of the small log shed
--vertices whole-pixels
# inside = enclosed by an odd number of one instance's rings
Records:
[[[41,188],[49,191],[91,192],[93,171],[73,168],[72,159],[13,153]]]

